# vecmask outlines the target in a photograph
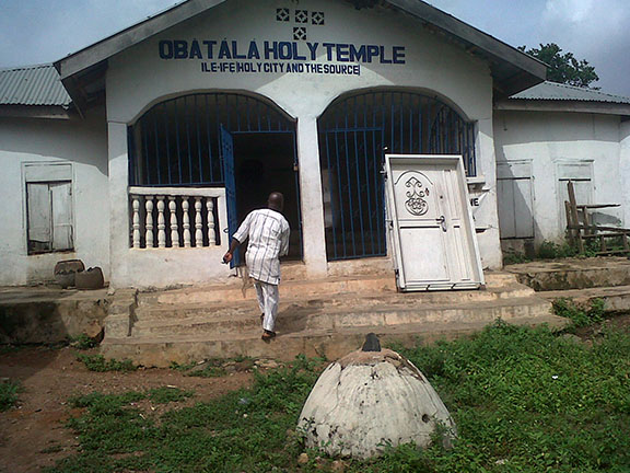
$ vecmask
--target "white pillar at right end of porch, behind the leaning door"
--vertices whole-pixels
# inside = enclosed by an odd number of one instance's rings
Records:
[[[503,255],[499,233],[497,157],[491,112],[489,118],[482,118],[478,122],[477,174],[483,175],[486,178],[482,187],[481,206],[475,212],[476,223],[486,228],[482,233],[477,234],[481,264],[483,268],[500,269],[503,267]]]

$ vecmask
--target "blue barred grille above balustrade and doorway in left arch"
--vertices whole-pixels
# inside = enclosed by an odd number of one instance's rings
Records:
[[[129,127],[130,185],[223,186],[220,128],[292,132],[295,123],[261,99],[197,93],[154,105]]]

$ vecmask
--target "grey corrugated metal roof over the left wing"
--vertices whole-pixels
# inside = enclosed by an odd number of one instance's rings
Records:
[[[0,69],[0,105],[68,106],[70,102],[52,65]]]

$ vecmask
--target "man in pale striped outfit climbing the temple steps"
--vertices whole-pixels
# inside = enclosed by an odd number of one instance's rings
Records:
[[[271,193],[266,209],[254,210],[247,215],[236,233],[232,235],[230,250],[223,256],[223,262],[230,263],[236,249],[249,239],[245,258],[262,312],[260,319],[265,342],[276,336],[273,328],[278,315],[279,257],[289,253],[290,229],[289,222],[281,214],[283,207],[282,194]]]

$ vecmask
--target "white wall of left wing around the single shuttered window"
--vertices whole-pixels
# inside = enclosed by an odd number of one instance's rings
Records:
[[[74,252],[27,255],[23,163],[72,164]],[[107,141],[104,111],[85,120],[0,118],[0,285],[51,280],[60,259],[109,274]]]

